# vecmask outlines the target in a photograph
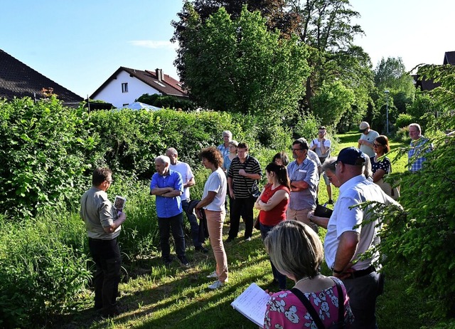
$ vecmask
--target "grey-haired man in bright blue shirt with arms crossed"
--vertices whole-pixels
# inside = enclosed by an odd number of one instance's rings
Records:
[[[183,235],[183,209],[181,195],[183,181],[181,174],[169,169],[171,160],[166,155],[155,159],[156,173],[151,177],[150,194],[156,196],[156,214],[160,235],[161,256],[166,265],[171,265],[169,236],[172,229],[176,243],[176,254],[184,266],[189,266],[185,256],[185,236]]]

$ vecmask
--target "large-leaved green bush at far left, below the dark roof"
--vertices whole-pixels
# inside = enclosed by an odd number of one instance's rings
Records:
[[[0,100],[0,212],[31,217],[80,194],[96,138],[87,115],[54,97]]]

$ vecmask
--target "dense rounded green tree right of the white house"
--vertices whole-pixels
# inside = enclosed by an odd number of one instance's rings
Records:
[[[191,8],[183,54],[186,87],[203,107],[240,113],[287,115],[309,74],[305,47],[270,32],[258,11],[243,8],[232,20],[220,9],[201,23]]]

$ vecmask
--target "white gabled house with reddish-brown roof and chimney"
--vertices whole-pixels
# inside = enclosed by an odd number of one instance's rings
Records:
[[[164,74],[163,70],[141,71],[121,66],[114,72],[100,88],[92,93],[92,100],[105,100],[116,108],[134,103],[141,95],[160,94],[188,99],[181,83]]]

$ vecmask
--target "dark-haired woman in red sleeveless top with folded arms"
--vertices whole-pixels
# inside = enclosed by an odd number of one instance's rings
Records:
[[[259,209],[259,226],[262,241],[271,229],[281,221],[286,220],[286,209],[289,204],[290,184],[287,169],[276,163],[265,167],[267,184],[257,198],[255,208]],[[272,261],[273,282],[278,283],[280,289],[286,289],[286,276],[277,271]]]

